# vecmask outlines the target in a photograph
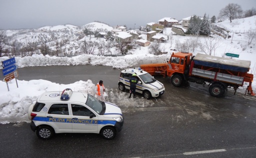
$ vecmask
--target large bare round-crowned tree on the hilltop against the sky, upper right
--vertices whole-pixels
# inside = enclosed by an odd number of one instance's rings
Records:
[[[232,22],[231,20],[234,19],[236,16],[240,15],[241,13],[242,9],[240,5],[229,3],[219,11],[219,16],[228,17],[230,22]]]

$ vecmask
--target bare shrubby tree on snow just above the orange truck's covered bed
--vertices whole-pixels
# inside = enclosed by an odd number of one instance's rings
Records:
[[[199,43],[199,47],[205,54],[215,56],[215,50],[220,46],[221,39],[219,37],[205,37]]]

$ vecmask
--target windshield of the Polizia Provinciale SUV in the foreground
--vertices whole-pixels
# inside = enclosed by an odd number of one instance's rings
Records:
[[[101,114],[101,111],[105,109],[103,108],[105,106],[104,102],[97,100],[90,94],[88,94],[88,99],[85,104],[98,114]]]

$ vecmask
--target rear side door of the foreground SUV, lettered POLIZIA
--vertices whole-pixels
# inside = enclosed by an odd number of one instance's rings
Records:
[[[55,132],[71,132],[72,124],[69,122],[71,116],[67,104],[54,103],[45,115],[47,124],[54,128]]]

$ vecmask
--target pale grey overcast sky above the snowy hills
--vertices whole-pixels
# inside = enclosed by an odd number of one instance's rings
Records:
[[[217,17],[228,3],[239,4],[242,10],[256,8],[256,0],[0,0],[0,29],[82,26],[93,21],[138,28],[163,17]]]

